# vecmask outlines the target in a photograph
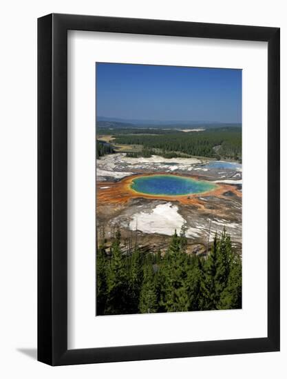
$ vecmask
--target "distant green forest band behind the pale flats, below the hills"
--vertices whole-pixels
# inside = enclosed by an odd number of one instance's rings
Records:
[[[173,154],[183,153],[192,156],[240,160],[242,156],[241,130],[116,135],[114,142],[142,145],[143,150],[150,149],[154,154],[169,154],[170,157],[173,157]],[[216,151],[215,146],[219,146]]]

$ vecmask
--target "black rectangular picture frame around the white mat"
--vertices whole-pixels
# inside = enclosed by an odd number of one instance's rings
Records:
[[[67,349],[67,30],[268,43],[268,336]],[[48,14],[38,19],[38,360],[74,365],[279,351],[279,28]]]

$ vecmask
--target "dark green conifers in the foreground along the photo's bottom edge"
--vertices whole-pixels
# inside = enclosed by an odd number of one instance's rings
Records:
[[[110,249],[105,238],[96,257],[96,314],[146,314],[172,311],[240,309],[242,262],[225,232],[215,236],[206,258],[186,253],[184,227],[167,252],[123,252],[120,231]],[[109,250],[109,252],[107,252]]]

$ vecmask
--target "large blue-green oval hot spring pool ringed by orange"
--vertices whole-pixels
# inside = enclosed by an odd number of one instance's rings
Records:
[[[140,176],[131,183],[131,189],[149,195],[182,196],[211,191],[217,186],[206,181],[176,175]]]

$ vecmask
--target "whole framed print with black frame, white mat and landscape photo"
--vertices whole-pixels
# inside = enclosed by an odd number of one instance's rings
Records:
[[[38,21],[38,359],[279,350],[279,28]]]

